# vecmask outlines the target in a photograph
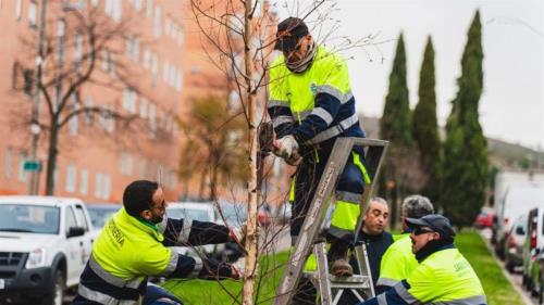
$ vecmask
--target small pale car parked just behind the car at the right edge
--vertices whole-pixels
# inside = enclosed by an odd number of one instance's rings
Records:
[[[505,266],[510,272],[519,266],[523,266],[523,243],[527,236],[527,215],[522,215],[514,221],[505,243]]]

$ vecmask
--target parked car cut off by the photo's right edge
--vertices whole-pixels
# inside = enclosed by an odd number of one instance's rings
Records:
[[[541,200],[544,201],[544,196]],[[523,243],[522,282],[526,289],[533,294],[542,293],[542,277],[544,276],[540,266],[544,255],[544,202],[540,206],[529,212],[528,237]]]

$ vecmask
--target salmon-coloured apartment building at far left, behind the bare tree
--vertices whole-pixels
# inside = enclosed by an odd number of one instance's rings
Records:
[[[29,190],[30,173],[24,163],[32,153],[29,122],[41,3],[0,1],[2,194]],[[182,24],[186,11],[182,2],[49,0],[46,9],[42,66],[52,103],[48,106],[40,94],[37,158],[44,167],[39,193],[46,193],[51,111],[58,111],[65,100],[65,110],[59,113],[65,124],[58,132],[54,194],[121,202],[127,183],[146,178],[160,180],[168,199],[175,199],[181,149],[175,119],[182,117],[188,94],[184,88]],[[98,41],[91,40],[91,27],[100,29],[92,33]],[[91,45],[95,51],[89,50]],[[64,99],[78,76],[87,72],[91,55],[96,60],[89,79]],[[67,77],[70,73],[73,77]],[[69,117],[82,109],[92,111]]]

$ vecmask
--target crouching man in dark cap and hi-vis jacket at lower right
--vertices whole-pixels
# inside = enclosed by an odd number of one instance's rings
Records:
[[[418,267],[407,279],[359,305],[487,304],[480,279],[454,245],[455,231],[438,214],[407,218]]]

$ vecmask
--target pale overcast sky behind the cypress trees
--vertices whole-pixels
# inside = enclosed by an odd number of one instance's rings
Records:
[[[480,9],[485,56],[480,122],[484,134],[544,150],[543,3],[542,0],[338,0],[331,14],[333,20],[325,27],[339,21],[335,37],[357,40],[378,34],[374,41],[386,41],[379,50],[355,48],[344,52],[353,56],[349,69],[357,109],[368,116],[382,115],[395,39],[400,31],[405,38],[413,109],[418,102],[423,50],[431,35],[435,50],[437,114],[440,124],[444,125],[457,92],[456,79],[460,75],[467,31],[475,10]],[[281,18],[289,14],[281,3],[277,10]],[[335,39],[330,41],[338,43]]]

